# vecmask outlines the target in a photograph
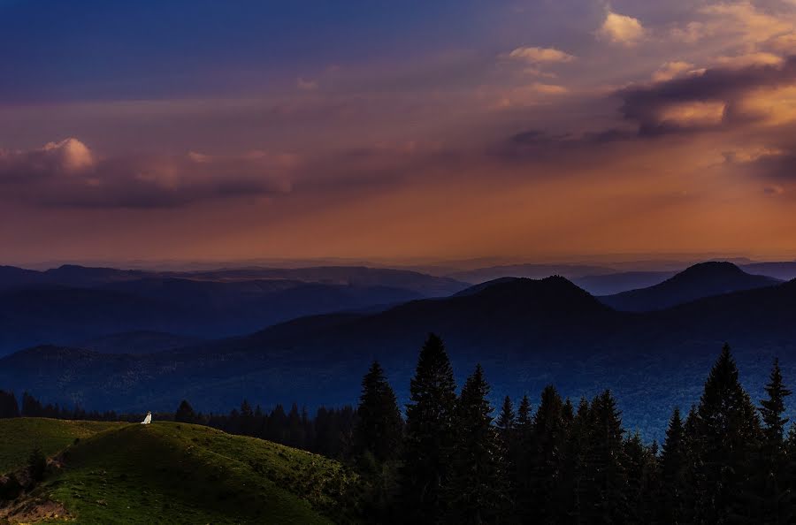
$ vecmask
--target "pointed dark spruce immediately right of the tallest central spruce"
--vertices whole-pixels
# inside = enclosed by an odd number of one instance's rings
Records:
[[[489,385],[478,365],[456,404],[455,442],[446,495],[450,523],[496,523],[501,516],[500,459]]]

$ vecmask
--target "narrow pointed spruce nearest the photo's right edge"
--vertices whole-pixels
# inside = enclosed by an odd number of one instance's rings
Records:
[[[760,414],[763,422],[762,438],[762,521],[765,523],[788,523],[792,521],[792,496],[788,487],[790,468],[785,451],[785,425],[789,421],[785,414],[785,398],[791,391],[785,388],[779,360],[774,360],[769,384],[766,385],[769,399],[762,399]]]

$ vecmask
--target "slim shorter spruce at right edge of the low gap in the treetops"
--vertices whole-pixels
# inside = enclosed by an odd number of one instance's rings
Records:
[[[664,523],[685,521],[688,497],[688,449],[680,409],[675,408],[666,429],[661,453],[660,516]]]

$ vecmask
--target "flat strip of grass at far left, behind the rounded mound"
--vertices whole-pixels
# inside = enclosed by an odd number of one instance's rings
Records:
[[[0,474],[24,467],[35,447],[52,456],[103,430],[121,428],[126,423],[96,421],[63,421],[44,418],[0,420]]]

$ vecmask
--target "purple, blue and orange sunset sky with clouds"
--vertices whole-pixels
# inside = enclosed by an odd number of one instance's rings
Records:
[[[0,0],[0,263],[796,257],[796,0]]]

